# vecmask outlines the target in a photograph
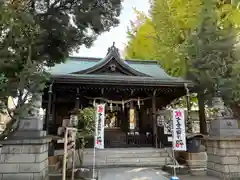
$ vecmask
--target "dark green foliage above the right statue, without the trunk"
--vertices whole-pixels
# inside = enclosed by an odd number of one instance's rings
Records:
[[[234,11],[239,12],[231,4],[216,7],[214,1],[203,0],[200,24],[183,46],[188,57],[188,78],[198,84],[199,91],[208,99],[214,95],[218,83],[225,104],[230,106],[239,101],[240,95],[236,53],[239,30],[237,25],[232,26],[234,22],[228,16]]]

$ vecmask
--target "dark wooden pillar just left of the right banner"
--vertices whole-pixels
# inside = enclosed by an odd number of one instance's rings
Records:
[[[158,148],[158,128],[156,119],[156,90],[153,92],[152,96],[152,120],[153,120],[153,134],[155,137],[155,147]]]

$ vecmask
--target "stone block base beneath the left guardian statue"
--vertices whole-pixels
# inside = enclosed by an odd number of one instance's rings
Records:
[[[12,140],[0,152],[0,180],[46,180],[47,139]]]

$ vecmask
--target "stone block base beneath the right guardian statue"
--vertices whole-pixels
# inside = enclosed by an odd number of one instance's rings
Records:
[[[220,179],[240,177],[240,138],[207,140],[207,173]]]

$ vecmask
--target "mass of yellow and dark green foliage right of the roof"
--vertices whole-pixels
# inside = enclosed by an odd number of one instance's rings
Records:
[[[209,99],[221,82],[225,99],[238,101],[239,2],[153,0],[149,17],[138,12],[126,58],[159,60],[170,75],[196,82]]]

